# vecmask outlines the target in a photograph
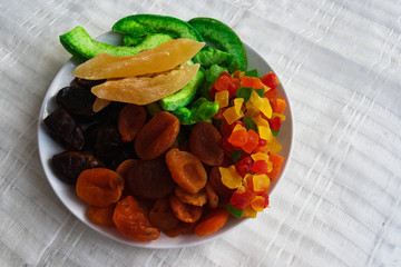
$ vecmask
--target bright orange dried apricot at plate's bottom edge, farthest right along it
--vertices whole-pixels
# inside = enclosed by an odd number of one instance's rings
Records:
[[[216,208],[206,215],[195,227],[194,233],[202,237],[221,229],[228,219],[228,211],[224,208]]]

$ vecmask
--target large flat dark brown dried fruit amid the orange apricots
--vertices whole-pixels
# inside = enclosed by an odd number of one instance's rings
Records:
[[[131,164],[126,178],[133,196],[156,199],[173,192],[175,182],[164,158],[137,160]]]

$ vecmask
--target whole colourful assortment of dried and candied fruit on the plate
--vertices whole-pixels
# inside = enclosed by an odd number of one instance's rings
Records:
[[[160,231],[202,237],[229,217],[254,218],[267,208],[283,162],[275,136],[286,109],[275,73],[246,71],[239,38],[214,19],[140,14],[114,29],[136,46],[155,34],[164,41],[138,52],[77,30],[61,36],[68,51],[89,60],[45,118],[66,148],[52,168],[88,204],[87,218],[150,241]],[[166,29],[175,34],[157,32]],[[221,36],[235,42],[202,49],[203,38]]]

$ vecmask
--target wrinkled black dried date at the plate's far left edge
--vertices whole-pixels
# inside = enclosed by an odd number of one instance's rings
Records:
[[[59,108],[43,120],[51,136],[71,150],[81,150],[85,144],[84,131],[80,125],[67,112]]]

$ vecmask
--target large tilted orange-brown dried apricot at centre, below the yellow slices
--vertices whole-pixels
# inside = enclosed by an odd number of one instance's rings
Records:
[[[141,159],[154,159],[170,148],[179,132],[179,120],[162,111],[155,115],[138,132],[135,151]]]

